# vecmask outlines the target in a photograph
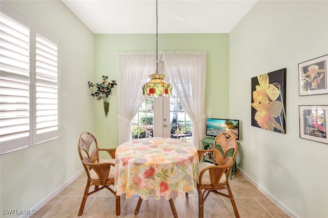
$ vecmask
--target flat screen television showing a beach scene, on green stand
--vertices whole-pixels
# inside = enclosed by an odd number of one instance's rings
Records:
[[[206,135],[216,137],[222,132],[229,132],[239,139],[239,119],[206,118]]]

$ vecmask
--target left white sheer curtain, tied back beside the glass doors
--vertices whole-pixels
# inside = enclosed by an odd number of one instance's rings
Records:
[[[131,120],[144,95],[142,85],[156,72],[155,52],[119,52],[118,56],[118,143],[131,140]]]

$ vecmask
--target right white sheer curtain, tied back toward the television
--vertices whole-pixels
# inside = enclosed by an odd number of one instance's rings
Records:
[[[164,65],[179,101],[193,122],[193,143],[201,149],[206,132],[205,52],[162,52]]]

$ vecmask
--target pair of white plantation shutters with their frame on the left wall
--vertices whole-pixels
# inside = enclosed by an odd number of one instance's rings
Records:
[[[4,154],[59,137],[59,80],[57,39],[36,25],[30,30],[28,19],[0,4],[0,154]]]

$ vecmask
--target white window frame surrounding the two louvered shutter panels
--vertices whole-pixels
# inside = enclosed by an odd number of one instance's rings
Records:
[[[5,4],[1,3],[1,10],[0,10],[1,14],[4,14],[5,16],[9,17],[10,19],[12,19],[13,21],[19,23],[20,25],[26,27],[29,30],[29,108],[28,108],[28,119],[29,119],[29,130],[26,131],[28,132],[28,135],[25,135],[24,137],[16,137],[13,139],[4,139],[4,141],[1,141],[0,144],[0,155],[2,154],[6,154],[12,151],[16,151],[19,149],[23,149],[23,148],[27,148],[30,146],[33,146],[34,144],[38,144],[38,143],[42,143],[44,141],[48,141],[48,140],[53,140],[55,138],[60,137],[60,71],[59,71],[59,39],[52,36],[50,33],[46,32],[45,30],[43,30],[42,28],[40,28],[39,26],[37,26],[35,23],[31,24],[31,21],[24,17],[23,15],[17,13],[16,11],[14,11],[13,9],[9,8],[8,6],[6,6]],[[55,118],[55,116],[53,116],[53,120],[55,120],[55,122],[57,122],[57,125],[55,125],[54,131],[49,131],[46,134],[36,134],[36,130],[37,130],[37,123],[36,123],[36,35],[40,35],[42,36],[44,39],[49,40],[50,42],[54,43],[55,48],[56,48],[56,56],[55,57],[55,61],[54,63],[56,63],[56,67],[55,67],[55,78],[54,79],[54,84],[56,85],[56,87],[54,88],[54,90],[57,93],[57,98],[55,98],[56,103],[54,105],[57,106],[57,119]],[[48,54],[48,53],[47,53]],[[47,56],[48,57],[48,56]],[[1,74],[4,74],[6,71],[1,71]],[[10,74],[10,72],[8,72],[8,75]],[[4,76],[3,78],[6,78],[6,76]],[[47,81],[47,79],[45,80]],[[8,95],[10,96],[10,95]],[[54,101],[55,102],[55,101]],[[17,102],[16,102],[17,103]],[[15,102],[12,103],[13,105],[16,104]],[[0,103],[3,104],[3,103]],[[49,105],[49,102],[46,102],[45,105]],[[16,108],[16,107],[15,107]],[[6,108],[4,108],[4,110],[2,111],[6,111]],[[2,118],[7,118],[7,116],[4,116]],[[17,118],[17,116],[16,116]],[[54,123],[55,123],[54,122]],[[6,127],[8,126],[0,126],[3,129],[6,129]],[[0,136],[1,136],[0,132]],[[5,134],[5,133],[4,133]],[[11,134],[11,133],[9,133]]]

